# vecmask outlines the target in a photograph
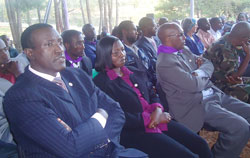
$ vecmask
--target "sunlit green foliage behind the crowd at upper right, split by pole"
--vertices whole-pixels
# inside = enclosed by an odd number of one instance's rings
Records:
[[[249,0],[194,0],[195,16],[215,17],[225,15],[235,20],[240,12],[250,10]],[[170,20],[183,19],[190,16],[189,0],[160,0],[156,7],[157,17],[166,16]]]

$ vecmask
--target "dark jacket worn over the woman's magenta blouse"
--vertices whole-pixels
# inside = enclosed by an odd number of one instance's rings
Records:
[[[138,85],[137,88],[141,91],[143,98],[149,103],[159,102],[159,98],[154,93],[152,83],[147,80],[145,72],[138,69],[133,72],[130,75],[130,80],[134,85]],[[144,132],[143,109],[136,92],[120,77],[110,80],[106,72],[100,72],[93,80],[101,90],[120,103],[126,117],[124,130]]]

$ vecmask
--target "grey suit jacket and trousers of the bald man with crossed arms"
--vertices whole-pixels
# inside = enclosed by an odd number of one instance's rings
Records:
[[[249,139],[250,105],[225,95],[210,81],[213,65],[207,59],[198,68],[197,56],[185,48],[179,55],[160,53],[157,58],[157,80],[169,103],[174,119],[198,132],[202,126],[220,131],[213,147],[216,158],[236,158]],[[193,76],[202,70],[206,77]],[[213,93],[203,98],[202,91]]]

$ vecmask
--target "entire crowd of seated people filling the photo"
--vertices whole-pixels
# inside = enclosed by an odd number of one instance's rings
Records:
[[[238,158],[250,138],[250,23],[240,13],[0,36],[0,157]],[[199,136],[219,132],[210,149]]]

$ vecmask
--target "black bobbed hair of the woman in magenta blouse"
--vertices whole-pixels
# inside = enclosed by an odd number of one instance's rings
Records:
[[[113,69],[112,63],[112,49],[115,42],[119,41],[119,38],[115,36],[106,36],[102,38],[96,46],[96,61],[95,69],[98,72],[105,71],[105,68]]]

